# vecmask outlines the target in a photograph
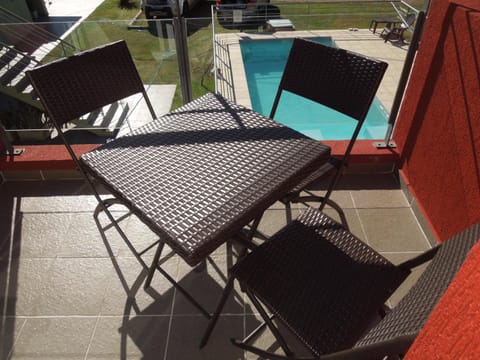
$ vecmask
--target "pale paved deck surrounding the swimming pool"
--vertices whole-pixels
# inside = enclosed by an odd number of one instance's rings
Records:
[[[407,45],[398,46],[390,42],[385,42],[378,34],[373,34],[368,29],[358,29],[351,31],[345,30],[312,30],[312,31],[279,31],[275,33],[229,33],[217,34],[216,40],[222,46],[228,47],[229,59],[223,62],[230,68],[221,68],[222,74],[231,71],[234,98],[239,104],[251,108],[250,96],[248,93],[248,84],[243,66],[242,55],[240,51],[240,41],[242,40],[266,40],[266,39],[284,39],[294,37],[331,37],[335,43],[344,49],[354,51],[366,56],[370,56],[388,63],[388,69],[380,84],[377,97],[382,102],[385,109],[390,112],[395,97],[400,75],[402,73],[405,56],[407,55]],[[218,52],[220,53],[220,52]]]

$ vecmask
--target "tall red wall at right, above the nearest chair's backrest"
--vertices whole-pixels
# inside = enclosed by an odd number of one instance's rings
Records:
[[[440,241],[480,221],[478,39],[479,1],[433,0],[394,133]]]

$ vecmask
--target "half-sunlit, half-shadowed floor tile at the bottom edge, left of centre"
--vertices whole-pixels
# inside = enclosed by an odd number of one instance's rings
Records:
[[[163,359],[168,316],[100,317],[86,359]]]

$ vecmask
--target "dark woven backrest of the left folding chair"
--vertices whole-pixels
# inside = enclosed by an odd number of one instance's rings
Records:
[[[124,41],[48,63],[28,75],[50,118],[59,126],[143,91]]]

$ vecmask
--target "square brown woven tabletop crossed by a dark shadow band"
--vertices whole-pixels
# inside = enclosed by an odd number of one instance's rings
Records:
[[[207,94],[82,161],[195,265],[321,166],[329,150]]]

